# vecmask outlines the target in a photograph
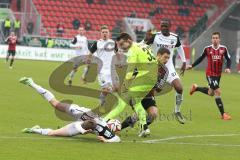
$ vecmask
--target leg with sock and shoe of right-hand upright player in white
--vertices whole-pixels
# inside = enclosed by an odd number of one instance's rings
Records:
[[[183,118],[181,111],[180,111],[180,107],[181,107],[181,104],[183,101],[183,87],[182,87],[180,79],[177,78],[177,79],[173,80],[172,86],[174,87],[174,89],[176,91],[176,105],[175,105],[175,109],[174,109],[174,115],[179,123],[184,124],[185,119]]]

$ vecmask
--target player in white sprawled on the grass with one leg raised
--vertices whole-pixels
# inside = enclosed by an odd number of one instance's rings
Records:
[[[23,77],[20,83],[29,85],[41,94],[55,109],[65,112],[70,115],[75,122],[70,123],[60,129],[41,128],[34,126],[32,128],[25,128],[24,133],[37,133],[47,136],[75,136],[78,134],[95,133],[98,139],[103,142],[120,142],[120,138],[115,135],[107,126],[106,121],[101,119],[91,109],[79,107],[76,104],[67,104],[59,102],[55,96],[47,89],[36,84],[31,78]]]

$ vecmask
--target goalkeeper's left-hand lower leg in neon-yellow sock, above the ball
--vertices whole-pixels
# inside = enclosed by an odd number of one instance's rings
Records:
[[[114,94],[114,95],[118,98],[118,104],[110,113],[107,114],[106,117],[104,117],[104,120],[106,120],[106,121],[117,117],[120,113],[123,112],[123,110],[126,107],[125,101],[123,101],[122,98],[119,97],[118,94]]]

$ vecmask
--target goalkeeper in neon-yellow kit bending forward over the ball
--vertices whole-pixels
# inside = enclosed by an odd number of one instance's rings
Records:
[[[117,107],[105,117],[105,120],[115,118],[122,113],[126,105],[130,105],[139,118],[141,125],[139,136],[146,136],[148,134],[147,115],[141,100],[157,81],[157,61],[147,45],[133,42],[127,33],[121,33],[117,38],[117,46],[118,52],[124,52],[127,56],[128,63],[125,78],[119,91],[124,101],[119,100]]]

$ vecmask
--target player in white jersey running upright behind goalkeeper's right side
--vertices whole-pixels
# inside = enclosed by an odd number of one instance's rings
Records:
[[[175,117],[181,124],[184,124],[185,119],[183,118],[180,112],[181,103],[183,101],[183,87],[181,84],[181,80],[173,65],[172,58],[174,54],[173,53],[174,49],[175,48],[177,49],[177,52],[183,62],[180,75],[184,75],[184,72],[186,69],[186,59],[185,59],[185,53],[181,45],[181,42],[179,40],[179,37],[178,35],[171,33],[169,31],[170,27],[171,27],[170,20],[163,19],[161,21],[161,31],[154,34],[153,37],[148,40],[147,44],[152,45],[152,50],[153,50],[153,53],[155,54],[157,53],[158,49],[162,47],[169,49],[171,52],[170,59],[166,64],[169,70],[167,82],[171,84],[176,91],[176,105],[174,109]]]

